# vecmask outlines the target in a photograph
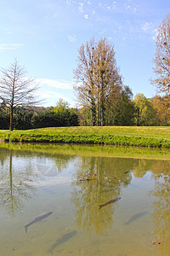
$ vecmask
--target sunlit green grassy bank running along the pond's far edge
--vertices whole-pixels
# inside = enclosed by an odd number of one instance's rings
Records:
[[[10,142],[90,143],[170,148],[170,127],[106,126],[56,127],[28,131],[0,131]]]

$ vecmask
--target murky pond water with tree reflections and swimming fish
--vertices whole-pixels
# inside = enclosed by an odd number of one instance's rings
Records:
[[[0,144],[1,256],[170,255],[170,160],[76,147]]]

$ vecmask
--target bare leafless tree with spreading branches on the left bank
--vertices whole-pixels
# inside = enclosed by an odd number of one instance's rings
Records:
[[[26,69],[14,60],[7,69],[1,68],[0,99],[5,102],[10,113],[9,130],[13,131],[14,108],[36,104],[37,84],[34,79],[26,78]]]

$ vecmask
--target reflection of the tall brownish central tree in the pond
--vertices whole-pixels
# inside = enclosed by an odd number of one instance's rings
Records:
[[[131,182],[131,172],[127,172],[130,166],[129,160],[126,159],[81,158],[77,168],[77,182],[72,183],[71,195],[71,201],[76,206],[76,219],[79,227],[90,234],[95,231],[99,236],[111,229],[117,202],[102,209],[99,209],[99,204],[121,195],[122,187],[127,187]],[[78,181],[80,177],[91,178],[87,181]]]

